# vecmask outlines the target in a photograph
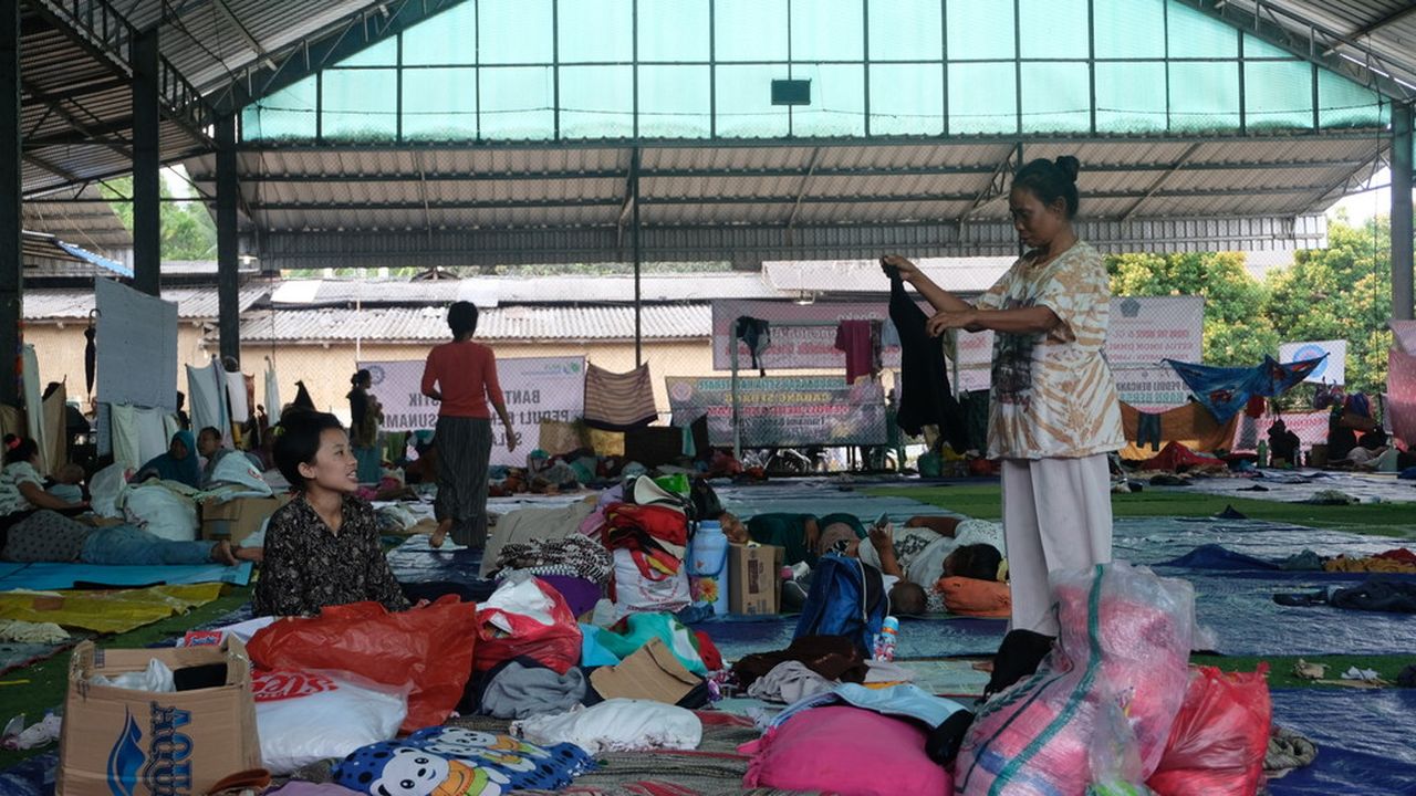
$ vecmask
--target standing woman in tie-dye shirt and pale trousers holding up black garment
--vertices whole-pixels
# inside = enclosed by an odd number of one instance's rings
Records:
[[[993,330],[988,457],[1003,462],[1003,530],[1012,579],[1014,633],[1004,644],[1031,673],[1058,633],[1048,572],[1112,559],[1106,455],[1126,438],[1116,381],[1103,358],[1110,286],[1102,255],[1078,239],[1078,160],[1034,160],[1012,178],[1008,210],[1028,252],[973,305],[935,285],[915,263],[886,256],[935,314],[927,329]],[[1037,657],[1037,660],[1032,660]],[[1007,666],[1005,666],[1007,664]],[[1007,686],[1007,684],[1001,684]]]

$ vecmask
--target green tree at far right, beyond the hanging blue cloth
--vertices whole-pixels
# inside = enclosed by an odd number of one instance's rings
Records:
[[[1386,388],[1392,333],[1391,224],[1328,224],[1328,248],[1300,251],[1269,273],[1266,314],[1284,341],[1347,340],[1348,391]]]

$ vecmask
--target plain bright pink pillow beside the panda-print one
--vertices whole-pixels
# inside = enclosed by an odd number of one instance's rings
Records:
[[[843,796],[954,792],[950,775],[925,756],[922,727],[861,708],[809,710],[738,751],[752,755],[745,788]]]

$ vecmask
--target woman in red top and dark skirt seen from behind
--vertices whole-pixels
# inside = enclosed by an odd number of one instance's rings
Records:
[[[438,428],[438,530],[432,545],[442,547],[452,533],[457,544],[480,548],[487,544],[487,467],[491,460],[491,411],[507,433],[507,450],[517,449],[511,416],[497,382],[497,357],[491,348],[473,343],[477,307],[457,302],[447,309],[452,343],[428,354],[423,367],[423,395],[439,401]],[[490,405],[490,409],[489,409]]]

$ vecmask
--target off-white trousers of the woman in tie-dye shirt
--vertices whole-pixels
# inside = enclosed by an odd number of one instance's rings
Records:
[[[1014,630],[1058,635],[1048,574],[1112,559],[1112,483],[1106,455],[1004,459],[1003,535]]]

